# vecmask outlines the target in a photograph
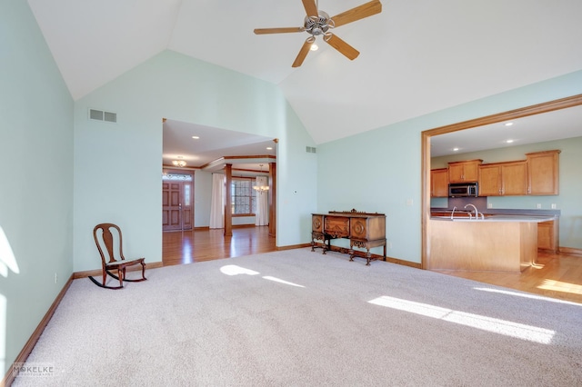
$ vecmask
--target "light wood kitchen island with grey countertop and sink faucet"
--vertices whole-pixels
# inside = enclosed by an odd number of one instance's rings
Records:
[[[537,257],[537,224],[552,216],[431,217],[427,269],[520,273]]]

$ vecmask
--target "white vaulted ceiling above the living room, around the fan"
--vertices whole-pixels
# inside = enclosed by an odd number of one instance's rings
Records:
[[[318,42],[298,68],[306,33],[253,29],[303,25],[301,0],[28,3],[75,99],[169,49],[278,84],[316,144],[582,69],[580,0],[381,1],[334,30],[356,60]]]

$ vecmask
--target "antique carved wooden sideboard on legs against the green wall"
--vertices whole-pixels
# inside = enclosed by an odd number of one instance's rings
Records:
[[[325,254],[331,250],[331,240],[336,238],[349,239],[349,260],[354,261],[354,247],[366,249],[366,265],[372,258],[370,248],[384,246],[384,261],[386,261],[386,215],[384,213],[361,213],[351,211],[330,211],[329,213],[311,214],[311,251],[316,247],[323,249]],[[322,242],[316,242],[322,241]]]

